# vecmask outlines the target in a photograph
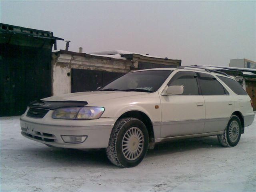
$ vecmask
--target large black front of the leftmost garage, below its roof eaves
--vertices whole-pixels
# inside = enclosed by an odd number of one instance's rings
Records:
[[[0,44],[0,116],[25,112],[34,100],[51,96],[51,50]]]

